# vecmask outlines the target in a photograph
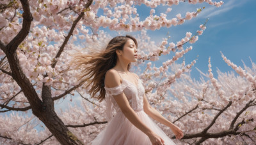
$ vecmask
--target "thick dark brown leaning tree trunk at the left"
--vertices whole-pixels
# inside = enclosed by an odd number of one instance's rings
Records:
[[[1,43],[1,49],[6,54],[10,69],[12,70],[12,78],[17,82],[25,97],[28,99],[32,113],[45,124],[52,135],[54,135],[61,144],[83,144],[68,130],[54,111],[54,102],[52,100],[50,86],[46,86],[45,83],[43,83],[42,100],[40,100],[35,88],[33,88],[33,85],[20,67],[16,50],[20,43],[28,36],[31,21],[33,20],[29,10],[28,0],[20,0],[20,2],[24,10],[24,13],[22,13],[22,17],[24,18],[22,29],[8,45],[4,46],[3,43]]]

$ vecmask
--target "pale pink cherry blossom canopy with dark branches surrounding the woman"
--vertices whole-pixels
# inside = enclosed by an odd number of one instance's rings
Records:
[[[88,88],[84,88],[86,82],[74,77],[79,70],[67,67],[73,52],[104,48],[111,37],[100,28],[141,32],[136,37],[140,45],[138,63],[133,67],[139,71],[147,62],[140,78],[150,104],[184,131],[184,137],[175,143],[255,143],[256,65],[252,62],[252,68],[242,69],[221,54],[239,76],[218,71],[218,79],[214,78],[209,59],[209,74],[201,72],[205,78],[195,81],[188,72],[196,59],[188,65],[175,61],[192,50],[192,46],[183,47],[198,40],[205,24],[195,34],[186,32],[177,43],[163,38],[156,45],[147,35],[147,30],[182,25],[204,9],[168,19],[171,7],[180,3],[223,4],[211,0],[1,1],[1,144],[86,144],[106,127],[106,104],[90,99]],[[137,13],[136,6],[141,4],[151,8],[145,20]],[[154,8],[161,5],[167,7],[166,13],[153,15]],[[173,57],[161,67],[151,66],[161,55],[170,53]],[[56,103],[75,93],[81,105],[56,112]],[[45,128],[39,132],[36,126],[40,123]],[[175,138],[169,128],[159,126]]]

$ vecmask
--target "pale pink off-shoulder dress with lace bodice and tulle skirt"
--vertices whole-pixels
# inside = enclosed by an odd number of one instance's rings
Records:
[[[120,76],[120,74],[119,74]],[[120,76],[121,77],[121,76]],[[121,77],[122,78],[122,77]],[[138,78],[137,78],[138,79]],[[159,128],[151,118],[143,110],[143,95],[145,93],[143,81],[138,79],[138,87],[128,81],[122,79],[122,83],[113,88],[105,86],[106,90],[106,115],[108,125],[102,132],[93,139],[92,145],[136,145],[136,144],[152,144],[149,137],[135,127],[122,113],[120,107],[116,103],[112,95],[125,93],[127,100],[132,109],[136,112],[145,125],[147,125],[154,133],[159,135],[166,145],[175,144],[164,132]],[[115,109],[115,110],[114,110]],[[115,116],[113,114],[115,113]],[[113,117],[112,117],[113,116]]]

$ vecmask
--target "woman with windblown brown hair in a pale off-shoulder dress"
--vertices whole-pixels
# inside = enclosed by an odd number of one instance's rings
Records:
[[[80,77],[87,77],[86,87],[93,84],[88,91],[91,96],[100,102],[106,99],[108,125],[90,144],[174,144],[148,116],[170,127],[176,139],[183,137],[179,127],[150,106],[143,81],[129,72],[131,62],[137,61],[137,47],[132,36],[117,36],[103,52],[80,55],[73,62],[77,69],[84,67]]]

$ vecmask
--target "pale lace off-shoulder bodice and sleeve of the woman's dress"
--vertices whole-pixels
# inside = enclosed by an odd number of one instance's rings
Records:
[[[106,90],[107,120],[110,120],[112,118],[115,111],[121,111],[120,107],[113,98],[113,95],[118,95],[122,92],[124,92],[125,96],[127,97],[127,100],[129,101],[130,106],[132,107],[132,109],[134,109],[134,111],[143,110],[143,95],[145,93],[145,89],[142,84],[143,81],[139,78],[136,79],[138,80],[138,87],[131,83],[131,81],[127,81],[127,79],[124,78],[122,78],[122,83],[118,86],[112,88],[108,88],[106,86],[104,87]]]

